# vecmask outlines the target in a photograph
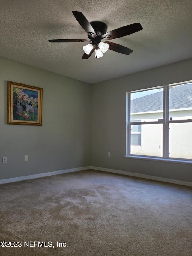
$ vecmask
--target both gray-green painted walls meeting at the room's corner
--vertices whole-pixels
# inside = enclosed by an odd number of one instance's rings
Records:
[[[192,80],[192,59],[94,85],[2,57],[0,66],[0,179],[91,165],[192,182],[191,165],[124,158],[126,92]],[[42,126],[7,124],[9,80],[43,88]]]

